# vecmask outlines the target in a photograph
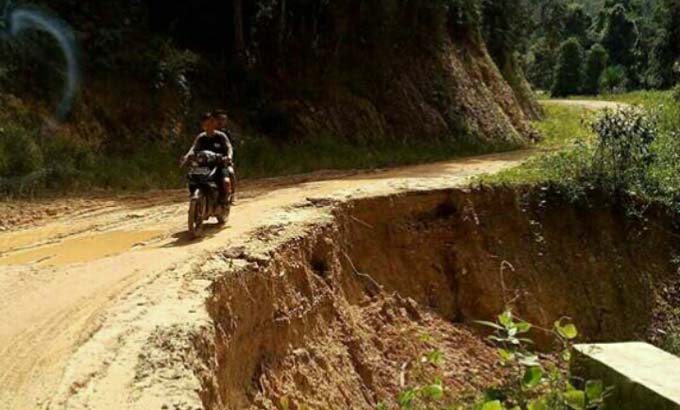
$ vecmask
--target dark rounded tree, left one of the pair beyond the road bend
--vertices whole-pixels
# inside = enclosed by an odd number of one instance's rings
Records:
[[[562,43],[557,67],[555,67],[555,82],[551,94],[553,97],[566,97],[578,94],[581,88],[583,72],[583,47],[578,39],[572,37]]]

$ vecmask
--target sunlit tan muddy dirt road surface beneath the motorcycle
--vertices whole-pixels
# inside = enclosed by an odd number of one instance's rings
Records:
[[[329,204],[459,186],[529,155],[247,183],[227,226],[196,241],[185,233],[184,191],[31,210],[0,233],[2,408],[161,409],[171,398],[184,403],[175,408],[201,408],[195,372],[140,360],[172,361],[185,324],[209,325],[211,281],[198,266],[262,235],[295,235],[327,218]]]

